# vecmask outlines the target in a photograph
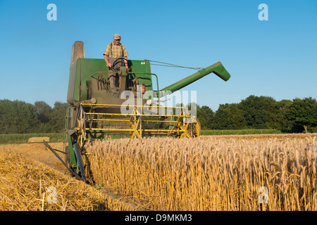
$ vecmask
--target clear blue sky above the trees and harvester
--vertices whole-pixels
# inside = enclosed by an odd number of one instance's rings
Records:
[[[57,20],[49,21],[48,4]],[[268,20],[260,21],[259,4]],[[66,102],[70,51],[84,41],[86,58],[103,58],[121,34],[130,59],[206,68],[220,61],[224,82],[208,75],[182,90],[214,111],[249,95],[276,101],[316,98],[317,1],[0,0],[0,99]],[[162,89],[194,70],[152,66]]]

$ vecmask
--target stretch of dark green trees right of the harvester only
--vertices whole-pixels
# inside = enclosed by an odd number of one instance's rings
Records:
[[[220,104],[213,112],[197,105],[201,129],[278,129],[282,132],[316,132],[315,98],[275,101],[268,96],[251,95],[240,103]]]

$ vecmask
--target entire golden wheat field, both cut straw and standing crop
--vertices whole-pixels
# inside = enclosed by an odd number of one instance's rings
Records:
[[[0,210],[315,211],[316,136],[89,141],[91,184],[43,144],[1,145]],[[48,202],[52,186],[56,203]]]

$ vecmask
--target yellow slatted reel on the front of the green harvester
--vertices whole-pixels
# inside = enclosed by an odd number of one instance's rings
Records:
[[[75,127],[75,131],[77,131],[78,140],[77,142],[82,147],[85,142],[87,131],[126,131],[130,132],[130,138],[142,137],[143,132],[166,132],[167,135],[176,134],[176,136],[182,137],[191,137],[192,131],[189,129],[189,122],[185,122],[185,118],[195,118],[190,115],[185,107],[178,106],[161,106],[161,105],[151,105],[152,108],[169,108],[169,109],[180,109],[180,115],[170,115],[170,114],[142,114],[139,112],[140,109],[144,107],[144,105],[127,105],[130,108],[133,107],[132,113],[92,113],[85,112],[85,108],[120,108],[125,105],[111,105],[111,104],[90,104],[90,103],[81,103],[79,114],[77,115],[77,127]],[[161,112],[161,111],[160,111]],[[94,116],[94,118],[92,118]],[[96,118],[97,117],[97,118]],[[111,117],[127,117],[126,119],[120,118],[111,118]],[[143,117],[170,117],[170,120],[142,120]],[[173,120],[173,118],[176,120]],[[86,127],[87,122],[129,122],[129,128],[96,128],[96,127]],[[173,126],[172,129],[143,129],[142,122],[151,122],[151,123],[170,123]],[[172,125],[173,124],[173,125]]]

